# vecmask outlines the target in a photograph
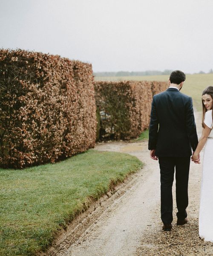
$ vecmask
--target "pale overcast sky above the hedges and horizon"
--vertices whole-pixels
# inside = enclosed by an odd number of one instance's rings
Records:
[[[0,47],[98,71],[213,69],[213,0],[0,0]]]

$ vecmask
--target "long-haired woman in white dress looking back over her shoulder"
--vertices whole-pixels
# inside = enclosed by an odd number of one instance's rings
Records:
[[[213,242],[213,86],[208,86],[203,91],[202,106],[203,131],[192,160],[195,163],[200,163],[199,153],[206,144],[203,155],[201,180],[199,236],[204,241]]]

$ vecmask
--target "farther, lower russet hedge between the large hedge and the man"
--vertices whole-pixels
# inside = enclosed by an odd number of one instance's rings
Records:
[[[96,81],[95,100],[100,112],[99,140],[129,140],[147,129],[153,95],[166,90],[165,82]]]

